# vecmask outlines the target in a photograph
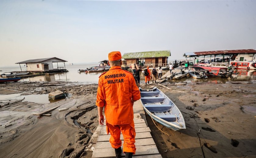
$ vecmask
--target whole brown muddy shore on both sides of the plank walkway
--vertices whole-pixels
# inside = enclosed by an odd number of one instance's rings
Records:
[[[256,157],[256,83],[192,81],[157,86],[180,109],[186,130],[170,134],[155,127],[150,116],[147,121],[159,152],[165,157]],[[236,84],[234,84],[236,83]],[[56,89],[69,94],[57,102],[0,101],[0,157],[90,157],[84,151],[98,126],[95,106],[97,84],[79,85],[70,82],[18,82],[1,84],[0,95],[21,93],[48,94]],[[87,101],[88,104],[76,108]],[[9,104],[8,104],[9,102]],[[13,103],[13,104],[11,104]],[[69,108],[51,116],[37,117],[49,107]],[[199,131],[200,129],[200,131]],[[198,132],[199,131],[199,132]]]

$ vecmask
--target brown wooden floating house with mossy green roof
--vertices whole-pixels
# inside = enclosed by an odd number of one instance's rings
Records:
[[[170,50],[124,53],[123,58],[127,61],[127,65],[140,64],[141,66],[166,66],[167,59],[171,56]]]

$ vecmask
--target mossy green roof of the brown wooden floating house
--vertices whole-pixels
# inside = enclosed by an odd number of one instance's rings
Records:
[[[124,59],[139,59],[139,58],[158,58],[158,57],[169,57],[171,56],[170,50],[162,51],[151,51],[151,52],[135,52],[135,53],[124,53]]]

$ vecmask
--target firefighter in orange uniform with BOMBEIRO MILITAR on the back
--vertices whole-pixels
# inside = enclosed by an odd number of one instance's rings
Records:
[[[116,157],[121,158],[120,133],[122,131],[123,153],[126,158],[131,158],[136,150],[133,103],[140,99],[140,91],[133,74],[121,69],[121,58],[120,52],[108,54],[110,69],[99,77],[96,105],[100,125],[104,122],[102,110],[105,107],[107,134],[111,134],[109,142],[115,149]]]

